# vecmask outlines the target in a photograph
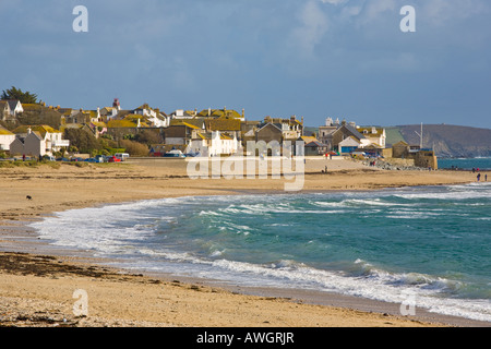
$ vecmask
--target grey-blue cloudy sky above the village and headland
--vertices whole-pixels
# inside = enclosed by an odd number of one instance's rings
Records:
[[[119,98],[310,127],[490,129],[490,19],[489,0],[0,0],[0,91],[63,108]]]

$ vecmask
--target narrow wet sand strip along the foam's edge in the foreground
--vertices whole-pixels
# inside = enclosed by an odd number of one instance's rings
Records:
[[[249,193],[252,194],[252,193]],[[277,193],[278,194],[278,193]],[[110,204],[110,203],[109,203]],[[100,204],[97,206],[104,206]],[[46,215],[48,216],[48,215]],[[45,216],[45,217],[46,217]],[[37,218],[32,221],[36,221]],[[471,320],[467,317],[446,315],[441,313],[429,312],[423,308],[416,308],[416,314],[412,316],[400,315],[399,303],[392,303],[387,301],[379,301],[362,297],[347,296],[336,292],[325,292],[316,290],[295,289],[295,288],[278,288],[278,287],[261,287],[261,286],[241,286],[230,285],[226,281],[200,278],[197,276],[180,276],[166,272],[148,272],[145,269],[128,269],[118,266],[119,261],[108,257],[96,257],[91,252],[71,249],[60,248],[49,244],[47,241],[39,241],[39,236],[34,228],[28,227],[32,221],[16,221],[15,227],[19,230],[20,240],[12,239],[12,249],[3,249],[0,246],[0,257],[9,253],[26,254],[32,258],[36,256],[50,256],[56,260],[63,261],[76,261],[77,264],[82,263],[89,269],[97,268],[110,268],[117,270],[117,273],[146,276],[151,279],[161,280],[166,284],[176,282],[178,280],[181,285],[187,287],[208,287],[214,289],[220,289],[231,294],[252,296],[259,298],[265,298],[268,300],[278,299],[296,304],[310,304],[330,306],[335,309],[346,309],[355,312],[361,312],[364,314],[379,314],[387,318],[386,325],[392,325],[391,320],[408,321],[414,326],[444,326],[444,327],[491,327],[491,323]],[[0,221],[0,231],[7,227]],[[11,226],[10,226],[11,228]],[[2,240],[4,241],[4,240]],[[125,261],[128,262],[128,261]],[[1,272],[0,272],[1,273]],[[197,286],[196,286],[197,285]],[[411,326],[411,325],[410,325]],[[0,323],[1,327],[1,323]]]

